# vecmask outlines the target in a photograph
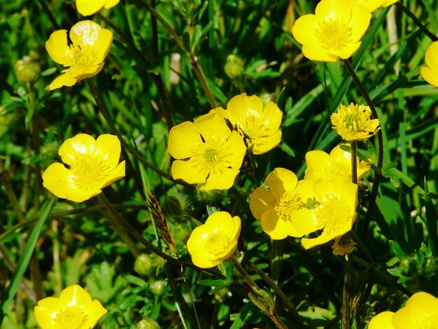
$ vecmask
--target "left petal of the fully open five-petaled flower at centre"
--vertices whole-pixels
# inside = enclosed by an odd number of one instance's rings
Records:
[[[229,135],[229,132],[227,132]],[[169,153],[176,159],[191,158],[194,148],[202,144],[201,134],[194,123],[186,121],[171,128],[169,133]],[[205,177],[204,177],[205,179]]]

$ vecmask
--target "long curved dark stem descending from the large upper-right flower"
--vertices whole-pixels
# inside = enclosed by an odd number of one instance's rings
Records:
[[[379,119],[379,116],[377,115],[376,108],[374,107],[374,104],[371,100],[371,97],[369,97],[367,90],[365,89],[364,85],[362,85],[362,82],[360,82],[360,79],[359,79],[358,75],[355,73],[353,66],[351,66],[348,59],[344,59],[344,64],[346,66],[348,73],[350,73],[351,78],[353,78],[355,84],[358,86],[358,89],[359,89],[360,93],[362,94],[362,96],[364,97],[365,102],[367,102],[367,105],[369,106],[369,109],[372,112],[373,118]],[[379,169],[382,169],[382,167],[383,167],[383,135],[382,135],[381,130],[379,130],[377,132],[377,146],[378,146],[378,148],[377,148],[377,151],[378,151],[378,153],[377,153],[377,167]],[[379,191],[380,179],[381,179],[381,172],[380,172],[380,170],[377,170],[374,172],[373,186],[372,186],[372,190],[371,190],[371,195],[369,195],[369,204],[368,204],[367,214],[365,215],[363,232],[362,232],[362,236],[361,236],[362,241],[365,241],[365,237],[367,235],[369,223],[371,222],[372,210],[374,208],[374,204],[376,203],[376,197],[377,197],[377,193]]]

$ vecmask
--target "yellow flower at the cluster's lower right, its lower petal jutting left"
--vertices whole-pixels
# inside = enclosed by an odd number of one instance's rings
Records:
[[[302,238],[306,249],[346,234],[357,215],[358,186],[343,176],[333,173],[330,180],[320,179],[314,183],[313,192],[317,202],[312,211],[313,221],[317,230],[323,232],[316,238]]]

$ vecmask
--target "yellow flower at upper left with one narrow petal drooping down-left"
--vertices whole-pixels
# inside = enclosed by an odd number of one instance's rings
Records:
[[[67,31],[61,29],[50,34],[45,42],[45,49],[50,57],[57,63],[69,69],[62,71],[48,86],[54,90],[63,85],[71,86],[85,78],[90,78],[99,73],[104,67],[104,59],[113,42],[113,34],[100,25],[83,20],[71,27],[67,41]]]

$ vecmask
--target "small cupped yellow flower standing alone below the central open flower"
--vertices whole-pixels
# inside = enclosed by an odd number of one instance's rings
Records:
[[[229,258],[237,248],[241,221],[226,211],[217,211],[207,218],[204,225],[193,230],[187,241],[192,262],[197,267],[215,267]]]

